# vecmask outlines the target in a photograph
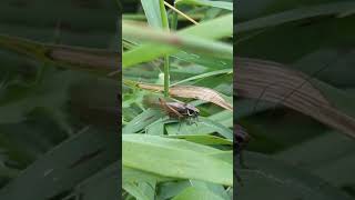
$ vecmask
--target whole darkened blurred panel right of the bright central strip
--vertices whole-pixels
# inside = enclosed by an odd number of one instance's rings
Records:
[[[252,137],[237,199],[354,199],[354,8],[236,4],[234,119]]]

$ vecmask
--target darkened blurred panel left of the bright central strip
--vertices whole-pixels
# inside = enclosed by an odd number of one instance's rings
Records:
[[[118,198],[119,19],[113,0],[0,2],[0,199]]]

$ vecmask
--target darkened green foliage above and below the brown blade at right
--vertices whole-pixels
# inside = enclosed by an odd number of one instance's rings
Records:
[[[237,56],[285,63],[345,91],[344,97],[354,97],[353,1],[255,0],[243,1],[237,8]],[[354,197],[351,138],[287,108],[261,102],[265,108],[254,109],[255,102],[234,101],[236,110],[243,110],[234,114],[235,120],[252,136],[247,150],[262,153],[244,158],[248,169],[241,170],[244,184],[236,189],[240,199]]]

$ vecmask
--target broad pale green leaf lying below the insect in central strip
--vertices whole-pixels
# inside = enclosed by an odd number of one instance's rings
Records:
[[[154,142],[155,139],[158,141]],[[185,146],[199,148],[200,144],[184,140],[172,142],[173,140],[149,134],[123,134],[122,163],[166,177],[233,184],[232,164],[183,148]],[[164,142],[170,144],[166,146]]]

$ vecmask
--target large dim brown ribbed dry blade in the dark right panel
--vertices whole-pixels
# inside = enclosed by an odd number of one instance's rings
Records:
[[[234,90],[239,96],[280,102],[355,138],[355,119],[334,108],[307,82],[306,74],[264,60],[236,58],[234,62]],[[293,90],[292,96],[284,99]]]

